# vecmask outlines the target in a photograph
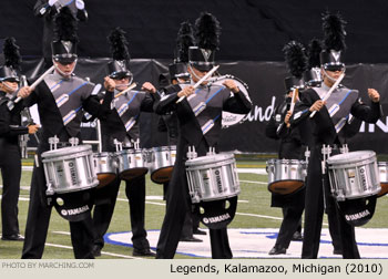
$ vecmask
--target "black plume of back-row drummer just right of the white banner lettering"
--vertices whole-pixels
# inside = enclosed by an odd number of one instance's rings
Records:
[[[302,43],[290,41],[283,48],[283,52],[289,73],[300,79],[303,73],[307,70],[305,48]]]

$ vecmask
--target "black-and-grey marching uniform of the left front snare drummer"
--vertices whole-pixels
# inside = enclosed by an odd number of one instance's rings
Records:
[[[31,180],[29,213],[25,225],[25,240],[22,258],[41,258],[48,234],[51,206],[47,202],[47,180],[44,177],[41,154],[50,149],[48,140],[57,135],[59,147],[67,146],[70,137],[80,138],[82,110],[100,116],[109,113],[112,93],[105,95],[104,104],[91,95],[93,85],[75,75],[63,78],[57,71],[45,76],[35,90],[24,100],[27,106],[38,104],[42,124],[41,141],[38,146],[39,161],[35,162]],[[68,101],[58,106],[61,96]],[[57,101],[57,102],[55,102]],[[80,138],[81,140],[81,138]],[[89,216],[81,221],[70,221],[71,241],[75,258],[93,258],[92,219]]]

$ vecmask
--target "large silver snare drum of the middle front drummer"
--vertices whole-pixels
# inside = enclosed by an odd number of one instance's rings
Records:
[[[234,154],[187,159],[185,165],[192,203],[225,199],[239,194]]]

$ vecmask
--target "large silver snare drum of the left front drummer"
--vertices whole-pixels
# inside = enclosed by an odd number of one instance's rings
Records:
[[[79,145],[42,153],[48,195],[93,188],[99,180],[90,145]]]

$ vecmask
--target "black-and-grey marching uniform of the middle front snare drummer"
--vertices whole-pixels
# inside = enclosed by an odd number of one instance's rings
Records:
[[[183,85],[181,85],[183,86]],[[184,99],[176,104],[177,93],[166,95],[155,104],[157,114],[175,111],[180,131],[176,151],[176,162],[172,179],[169,184],[166,198],[166,215],[160,234],[156,258],[173,258],[180,241],[185,214],[191,209],[188,186],[185,173],[186,153],[190,146],[195,146],[198,156],[205,156],[210,147],[217,148],[219,140],[222,111],[246,114],[251,103],[244,94],[231,96],[225,86],[200,86],[190,101]],[[195,116],[194,108],[200,102],[206,102],[206,107]],[[226,227],[210,229],[212,257],[232,258]]]

